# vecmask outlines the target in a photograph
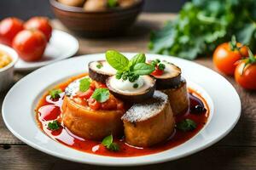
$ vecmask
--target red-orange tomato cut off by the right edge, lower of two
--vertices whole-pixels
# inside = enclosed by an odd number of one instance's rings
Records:
[[[236,66],[235,79],[242,88],[256,90],[256,63],[248,64],[246,60],[241,60]]]

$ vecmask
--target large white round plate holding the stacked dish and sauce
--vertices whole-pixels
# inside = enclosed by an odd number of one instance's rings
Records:
[[[125,55],[131,57],[134,54]],[[166,59],[180,66],[183,77],[189,82],[189,87],[195,88],[207,100],[211,116],[200,133],[171,150],[136,157],[96,156],[74,150],[50,139],[40,130],[35,120],[33,110],[38,99],[45,90],[56,83],[87,71],[86,65],[91,60],[104,58],[104,54],[90,54],[62,60],[24,77],[11,88],[3,101],[3,121],[6,126],[18,139],[52,156],[96,165],[135,166],[172,161],[203,150],[224,138],[240,117],[241,101],[236,90],[224,77],[188,60],[147,54],[148,59]]]

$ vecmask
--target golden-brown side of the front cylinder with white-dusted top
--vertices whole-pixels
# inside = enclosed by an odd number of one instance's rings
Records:
[[[124,120],[125,140],[127,144],[149,147],[168,139],[174,130],[175,120],[172,109],[167,101],[158,114],[146,120],[129,122]]]

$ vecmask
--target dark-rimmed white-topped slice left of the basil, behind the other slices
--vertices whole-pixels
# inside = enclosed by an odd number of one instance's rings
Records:
[[[116,71],[108,65],[105,60],[92,61],[88,65],[89,77],[96,82],[106,83],[108,77],[113,76]]]

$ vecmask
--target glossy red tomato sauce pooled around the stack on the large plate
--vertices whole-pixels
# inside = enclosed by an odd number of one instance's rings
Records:
[[[79,77],[84,77],[87,74],[79,75],[77,77],[73,77],[69,79],[67,82],[61,83],[55,88],[61,88],[62,91],[65,91],[65,88],[70,82],[73,82],[75,79]],[[201,114],[191,114],[191,111],[184,111],[183,114],[176,116],[176,122],[180,122],[183,119],[191,119],[196,124],[197,127],[193,131],[183,132],[180,130],[175,130],[172,133],[172,136],[167,139],[165,142],[161,144],[154,145],[150,148],[138,148],[131,146],[125,143],[125,139],[114,139],[114,142],[119,144],[119,151],[110,151],[107,150],[102,144],[101,141],[93,141],[82,139],[71,133],[67,127],[61,127],[58,130],[52,131],[48,128],[48,123],[54,120],[59,120],[61,122],[61,103],[63,100],[63,95],[61,94],[61,98],[55,101],[49,101],[49,93],[44,94],[42,99],[39,100],[38,107],[36,108],[36,118],[38,121],[38,126],[46,133],[51,139],[55,139],[61,144],[65,144],[68,147],[71,147],[75,150],[84,151],[91,154],[96,154],[100,156],[119,156],[119,157],[127,157],[127,156],[145,156],[149,154],[158,153],[164,150],[172,149],[173,147],[183,144],[188,141],[192,137],[195,136],[196,133],[204,127],[207,123],[207,118],[209,116],[209,107],[205,99],[201,97],[200,94],[197,94],[193,89],[189,88],[189,100],[190,107],[193,105],[203,104],[205,107],[205,111]]]

